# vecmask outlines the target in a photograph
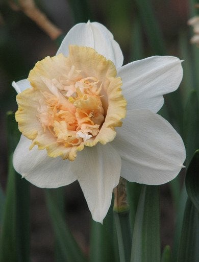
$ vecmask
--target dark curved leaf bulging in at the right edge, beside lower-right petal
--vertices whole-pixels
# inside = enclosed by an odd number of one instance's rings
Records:
[[[195,151],[187,169],[185,185],[187,194],[195,208],[199,211],[199,150]]]

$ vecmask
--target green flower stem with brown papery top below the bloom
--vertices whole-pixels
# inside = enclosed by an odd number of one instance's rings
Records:
[[[120,178],[114,193],[114,219],[117,231],[120,262],[129,262],[131,257],[131,228],[129,219],[129,205],[127,201],[126,180]]]

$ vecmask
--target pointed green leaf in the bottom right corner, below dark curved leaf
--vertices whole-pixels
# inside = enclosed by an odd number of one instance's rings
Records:
[[[180,247],[177,262],[198,262],[199,261],[199,217],[198,211],[190,201],[187,200]]]

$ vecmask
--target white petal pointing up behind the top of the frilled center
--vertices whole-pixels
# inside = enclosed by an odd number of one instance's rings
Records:
[[[101,23],[88,21],[87,23],[78,23],[72,27],[62,41],[57,55],[63,53],[68,56],[69,44],[92,47],[99,54],[110,59],[116,68],[123,63],[123,55],[119,44],[113,39],[111,32]]]

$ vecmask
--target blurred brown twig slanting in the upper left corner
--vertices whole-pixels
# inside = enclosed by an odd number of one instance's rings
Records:
[[[34,0],[18,0],[18,6],[13,2],[10,2],[10,6],[15,11],[17,7],[19,7],[19,9],[32,19],[51,39],[55,40],[62,34],[62,31],[49,21],[46,15],[38,9]]]

